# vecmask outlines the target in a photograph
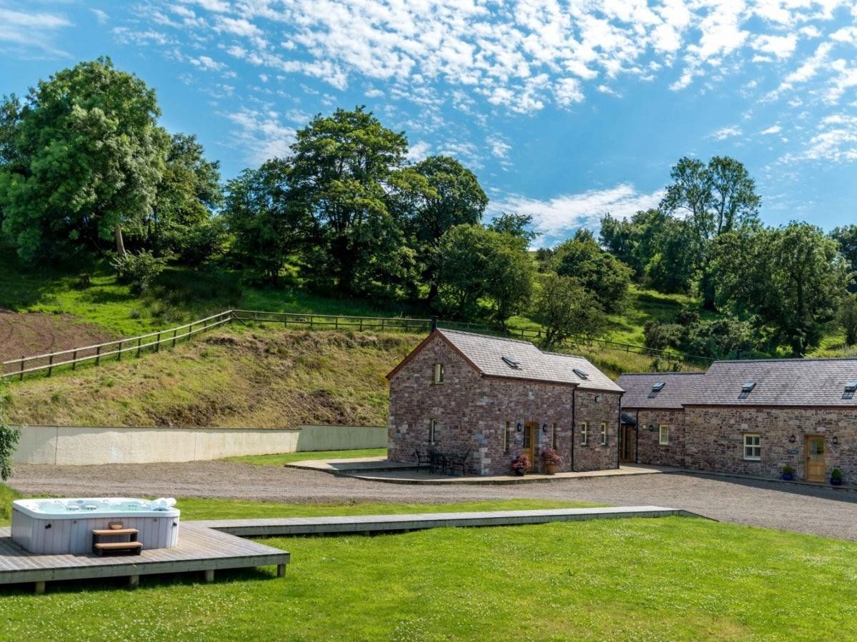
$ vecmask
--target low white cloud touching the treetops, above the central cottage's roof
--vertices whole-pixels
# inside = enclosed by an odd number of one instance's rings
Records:
[[[596,229],[605,214],[626,219],[639,210],[657,207],[663,190],[639,193],[630,183],[620,183],[608,189],[590,189],[581,194],[556,196],[548,200],[523,195],[506,195],[492,201],[492,212],[529,214],[533,227],[547,237],[565,236],[579,227]]]

